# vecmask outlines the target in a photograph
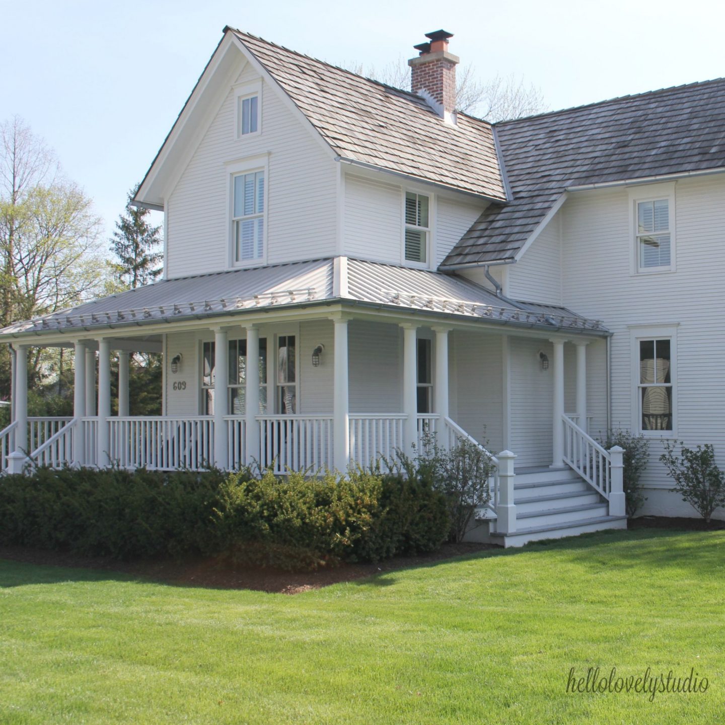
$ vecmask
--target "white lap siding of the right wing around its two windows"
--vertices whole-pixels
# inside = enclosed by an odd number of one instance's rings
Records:
[[[676,272],[630,275],[626,189],[572,194],[563,207],[564,302],[604,320],[612,338],[612,423],[631,428],[630,325],[677,328],[678,439],[713,443],[725,468],[725,178],[676,183]],[[666,192],[663,193],[666,196]],[[650,445],[647,484],[671,484]]]

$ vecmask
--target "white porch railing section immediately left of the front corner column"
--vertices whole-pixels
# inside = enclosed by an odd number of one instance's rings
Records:
[[[275,473],[333,468],[332,415],[259,415],[262,468]]]

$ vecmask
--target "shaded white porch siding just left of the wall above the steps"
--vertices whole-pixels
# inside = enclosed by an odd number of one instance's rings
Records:
[[[455,375],[451,418],[466,433],[489,447],[503,448],[502,337],[455,331],[452,365]]]

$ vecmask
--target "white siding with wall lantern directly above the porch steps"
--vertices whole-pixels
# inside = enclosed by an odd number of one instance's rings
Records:
[[[552,363],[552,344],[511,337],[509,346],[511,450],[518,456],[516,465],[550,465],[553,367],[542,370],[539,351]]]

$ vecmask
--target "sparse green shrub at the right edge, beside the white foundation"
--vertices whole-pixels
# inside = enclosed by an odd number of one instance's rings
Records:
[[[710,523],[716,508],[725,506],[725,473],[715,463],[715,449],[710,443],[687,448],[680,442],[680,457],[675,453],[675,446],[665,442],[660,462],[674,479],[674,491]]]

